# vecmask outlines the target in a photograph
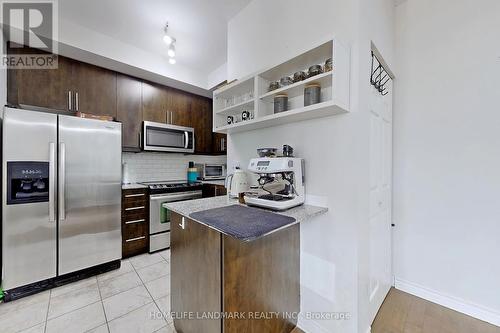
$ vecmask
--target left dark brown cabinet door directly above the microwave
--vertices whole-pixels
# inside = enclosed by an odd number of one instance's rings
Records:
[[[142,83],[142,119],[157,123],[167,122],[168,94],[164,87]]]

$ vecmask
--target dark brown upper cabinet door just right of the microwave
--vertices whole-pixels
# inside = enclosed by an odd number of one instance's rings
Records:
[[[213,153],[212,143],[212,101],[195,96],[191,104],[191,126],[194,127],[195,153]]]

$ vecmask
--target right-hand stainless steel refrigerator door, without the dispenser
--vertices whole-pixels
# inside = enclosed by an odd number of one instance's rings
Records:
[[[121,258],[121,124],[59,116],[59,275]]]

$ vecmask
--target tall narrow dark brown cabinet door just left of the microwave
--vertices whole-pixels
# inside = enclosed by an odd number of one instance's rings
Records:
[[[142,83],[118,74],[116,81],[116,119],[122,122],[122,147],[127,151],[141,149]]]

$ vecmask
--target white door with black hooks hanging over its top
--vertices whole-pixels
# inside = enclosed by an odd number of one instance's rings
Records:
[[[370,322],[392,285],[392,85],[370,95]]]

